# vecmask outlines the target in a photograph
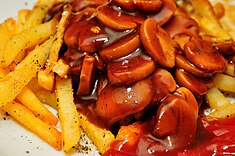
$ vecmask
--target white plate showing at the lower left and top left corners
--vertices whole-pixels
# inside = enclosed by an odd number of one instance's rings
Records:
[[[8,17],[16,18],[17,11],[32,8],[36,0],[0,0],[0,22]],[[87,144],[88,142],[88,144]],[[66,154],[55,150],[35,134],[12,119],[4,120],[0,115],[0,156],[81,156],[99,155],[90,140],[85,137],[82,145],[88,150]]]

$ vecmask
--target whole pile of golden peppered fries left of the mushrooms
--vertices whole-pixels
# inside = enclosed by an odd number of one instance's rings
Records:
[[[58,60],[71,7],[43,22],[57,2],[38,0],[32,10],[19,10],[17,20],[0,24],[0,110],[65,152],[78,145],[83,129],[102,153],[114,136],[77,112],[68,67]],[[58,117],[45,103],[58,110]]]

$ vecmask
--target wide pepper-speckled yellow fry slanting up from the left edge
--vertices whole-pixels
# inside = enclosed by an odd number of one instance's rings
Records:
[[[49,39],[35,48],[14,71],[8,73],[0,82],[0,107],[13,101],[27,83],[44,66],[53,40]]]

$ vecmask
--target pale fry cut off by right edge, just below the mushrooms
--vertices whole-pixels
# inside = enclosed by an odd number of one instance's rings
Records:
[[[235,78],[225,74],[216,74],[213,79],[215,86],[222,91],[235,93]]]

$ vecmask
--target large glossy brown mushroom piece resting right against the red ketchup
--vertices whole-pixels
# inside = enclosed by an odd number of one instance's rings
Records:
[[[197,117],[180,96],[168,94],[156,114],[153,135],[162,138],[170,149],[190,145],[196,136]]]

